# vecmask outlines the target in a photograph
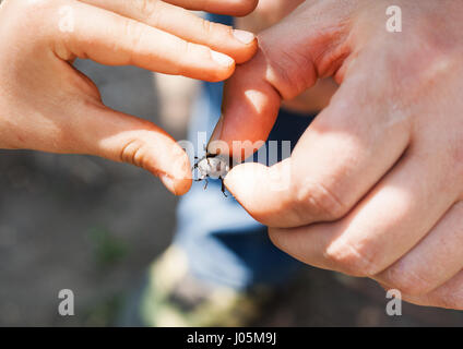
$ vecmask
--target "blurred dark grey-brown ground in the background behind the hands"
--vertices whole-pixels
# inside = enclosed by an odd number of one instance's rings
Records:
[[[183,136],[185,118],[159,119],[151,73],[78,64],[108,106]],[[1,152],[0,193],[1,326],[115,324],[175,225],[176,198],[156,179],[93,157]],[[74,291],[75,316],[58,314],[64,288]],[[409,304],[403,304],[403,316],[390,317],[388,301],[372,281],[308,267],[257,325],[463,325],[462,312]]]

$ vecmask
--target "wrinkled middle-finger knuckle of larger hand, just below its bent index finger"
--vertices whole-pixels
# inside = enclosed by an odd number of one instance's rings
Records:
[[[352,276],[372,277],[381,272],[379,262],[368,246],[335,240],[323,255],[335,269]]]

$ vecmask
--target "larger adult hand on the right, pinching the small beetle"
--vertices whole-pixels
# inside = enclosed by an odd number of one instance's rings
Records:
[[[261,33],[225,86],[213,140],[265,140],[282,100],[334,76],[290,158],[236,166],[225,184],[296,258],[461,310],[463,3],[397,0],[402,33],[385,29],[390,4],[308,0]]]

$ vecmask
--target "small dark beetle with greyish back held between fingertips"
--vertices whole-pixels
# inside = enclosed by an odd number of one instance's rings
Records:
[[[192,170],[198,169],[199,178],[194,181],[205,181],[204,190],[207,188],[207,178],[218,178],[222,182],[222,192],[225,197],[228,197],[225,193],[224,178],[230,170],[229,163],[219,154],[206,153],[202,158],[194,157],[198,161],[194,164]]]

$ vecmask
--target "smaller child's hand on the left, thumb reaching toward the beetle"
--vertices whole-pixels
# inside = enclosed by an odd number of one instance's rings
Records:
[[[0,5],[0,148],[79,153],[142,167],[175,194],[191,185],[182,148],[157,125],[111,110],[75,58],[205,81],[257,50],[251,33],[186,9],[245,15],[257,0],[5,0]]]

